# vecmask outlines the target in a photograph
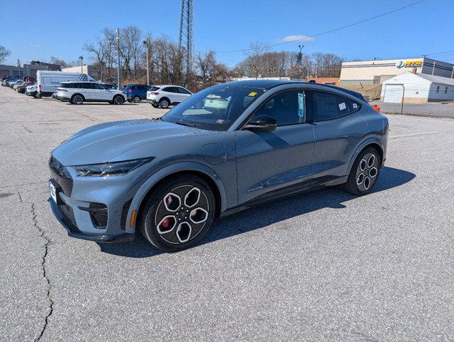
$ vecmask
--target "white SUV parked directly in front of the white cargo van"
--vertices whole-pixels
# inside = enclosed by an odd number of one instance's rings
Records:
[[[81,105],[84,102],[122,105],[126,100],[123,91],[110,89],[98,82],[62,82],[57,88],[57,98],[73,105]]]

